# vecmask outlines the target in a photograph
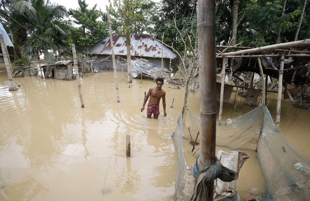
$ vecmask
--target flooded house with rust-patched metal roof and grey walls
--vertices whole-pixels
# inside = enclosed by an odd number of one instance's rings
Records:
[[[130,41],[131,58],[142,58],[157,66],[162,65],[163,58],[163,68],[170,69],[170,59],[175,58],[176,55],[153,37],[156,38],[156,35],[132,34]],[[113,34],[113,45],[116,69],[122,70],[122,65],[127,66],[126,35]],[[112,51],[109,36],[103,40],[97,41],[90,51],[91,57],[96,56],[93,65],[99,69],[113,68],[111,54]]]

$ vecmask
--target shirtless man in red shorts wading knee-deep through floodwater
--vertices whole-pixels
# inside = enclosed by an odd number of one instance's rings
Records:
[[[152,117],[152,114],[154,113],[154,119],[158,118],[159,115],[159,102],[162,98],[162,105],[164,106],[164,116],[167,116],[166,113],[166,92],[162,89],[162,85],[164,84],[164,80],[162,78],[158,78],[156,80],[156,87],[152,87],[148,90],[148,94],[146,95],[143,106],[141,108],[141,112],[144,110],[144,105],[146,101],[148,100],[148,97],[151,95],[150,100],[148,101],[148,109],[146,112],[146,115],[148,115],[148,118]]]

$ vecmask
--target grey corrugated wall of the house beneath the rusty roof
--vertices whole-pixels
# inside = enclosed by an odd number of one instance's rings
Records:
[[[94,55],[92,55],[94,56]],[[113,62],[112,62],[112,57],[110,55],[106,54],[97,54],[97,58],[93,62],[93,65],[96,68],[99,68],[100,70],[110,70],[113,69]],[[110,57],[109,57],[110,56]],[[117,55],[115,56],[115,63],[116,63],[116,70],[121,71],[122,70],[122,65],[127,66],[127,63],[124,59],[127,57],[124,55]],[[131,58],[140,58],[140,57],[133,57]],[[152,57],[141,57],[143,59],[148,60],[150,63],[154,63],[155,65],[161,66],[162,65],[162,58],[152,58]],[[104,60],[102,60],[104,59]],[[170,69],[170,59],[169,58],[164,58],[163,59],[163,64],[164,68]],[[127,71],[127,68],[124,69],[124,71]]]

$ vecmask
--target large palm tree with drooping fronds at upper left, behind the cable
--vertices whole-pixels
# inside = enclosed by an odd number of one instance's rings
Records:
[[[62,50],[70,50],[68,41],[70,24],[64,21],[66,8],[49,0],[12,0],[9,2],[10,14],[14,19],[28,29],[32,30],[36,35],[55,44]],[[29,36],[27,31],[19,31],[23,28],[17,23],[12,22],[11,27],[15,30],[15,36],[21,37],[20,46],[30,55],[38,55],[44,52],[48,55],[48,46],[36,36]],[[50,63],[47,61],[47,63]]]

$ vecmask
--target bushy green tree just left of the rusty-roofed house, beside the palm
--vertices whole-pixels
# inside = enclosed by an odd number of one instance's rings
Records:
[[[78,28],[71,28],[71,39],[77,49],[82,50],[108,35],[108,23],[106,14],[97,10],[97,5],[88,9],[85,0],[78,0],[78,4],[79,8],[69,9],[68,14],[75,19],[76,24],[80,25]]]

